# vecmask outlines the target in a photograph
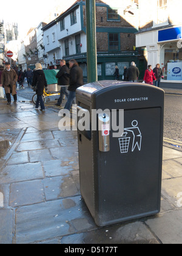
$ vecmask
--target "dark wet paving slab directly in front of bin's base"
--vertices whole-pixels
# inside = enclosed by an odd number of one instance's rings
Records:
[[[105,227],[76,235],[64,236],[62,244],[158,244],[143,222]]]

